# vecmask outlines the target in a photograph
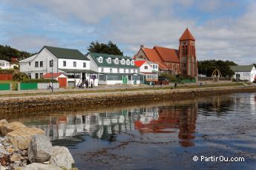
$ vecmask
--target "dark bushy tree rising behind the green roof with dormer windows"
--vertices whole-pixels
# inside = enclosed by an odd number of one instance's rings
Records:
[[[87,50],[89,52],[98,52],[111,55],[123,55],[123,53],[119,50],[116,44],[113,44],[111,41],[108,41],[108,44],[99,43],[99,41],[92,41]]]

